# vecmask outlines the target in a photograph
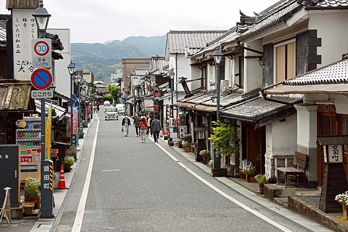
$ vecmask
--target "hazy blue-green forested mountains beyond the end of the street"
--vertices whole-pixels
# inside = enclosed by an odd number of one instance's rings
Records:
[[[100,43],[72,43],[72,60],[77,70],[92,72],[95,80],[106,80],[116,69],[122,67],[122,58],[150,58],[165,54],[166,35],[131,36],[122,41]]]

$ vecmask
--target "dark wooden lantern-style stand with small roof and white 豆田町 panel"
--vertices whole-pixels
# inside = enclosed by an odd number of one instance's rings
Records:
[[[318,143],[323,146],[324,155],[324,176],[319,209],[325,213],[342,212],[342,205],[335,201],[335,197],[347,191],[348,188],[343,165],[344,143],[348,143],[348,136],[318,136]]]

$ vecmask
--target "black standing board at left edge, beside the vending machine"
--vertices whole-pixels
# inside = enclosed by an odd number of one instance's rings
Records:
[[[5,187],[10,187],[11,207],[19,207],[20,148],[18,145],[0,145],[0,205],[5,198]]]

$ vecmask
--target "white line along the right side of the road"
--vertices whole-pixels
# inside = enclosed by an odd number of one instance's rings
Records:
[[[156,144],[157,146],[159,146],[158,144]],[[173,157],[173,155],[170,155],[166,150],[164,150],[164,148],[162,148],[161,146],[159,146],[163,151],[165,151],[165,153],[167,155],[169,155],[171,158],[173,158],[175,161],[178,161],[176,158]],[[223,197],[227,198],[228,200],[232,201],[233,203],[235,203],[236,205],[239,205],[240,207],[242,207],[243,209],[245,209],[246,211],[249,211],[250,213],[254,214],[255,216],[261,218],[263,221],[273,225],[274,227],[284,231],[284,232],[291,232],[290,230],[288,230],[287,228],[281,226],[280,224],[274,222],[273,220],[267,218],[266,216],[260,214],[259,212],[251,209],[250,207],[244,205],[242,202],[237,201],[236,199],[234,199],[233,197],[229,196],[228,194],[226,194],[225,192],[221,191],[220,189],[218,189],[217,187],[215,187],[214,185],[212,185],[211,183],[209,183],[208,181],[206,181],[205,179],[203,179],[202,177],[200,177],[198,174],[196,174],[194,171],[192,171],[191,169],[189,169],[188,167],[186,167],[184,164],[182,164],[181,162],[177,162],[180,166],[182,166],[185,170],[187,170],[189,173],[191,173],[194,177],[196,177],[197,179],[199,179],[200,181],[202,181],[204,184],[206,184],[208,187],[210,187],[211,189],[213,189],[214,191],[216,191],[217,193],[219,193],[220,195],[222,195]]]

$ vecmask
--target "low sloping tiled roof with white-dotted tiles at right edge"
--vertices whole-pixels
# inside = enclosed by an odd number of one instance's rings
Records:
[[[315,85],[348,83],[348,60],[336,62],[332,65],[286,80],[284,85]]]

